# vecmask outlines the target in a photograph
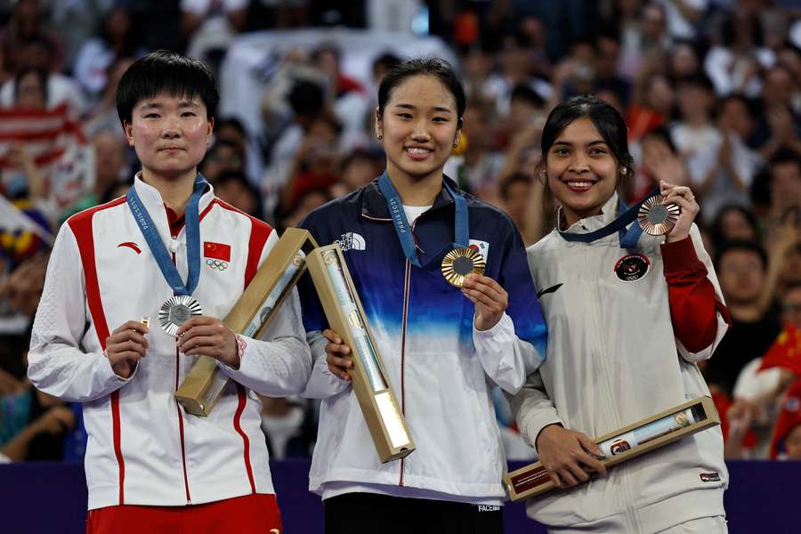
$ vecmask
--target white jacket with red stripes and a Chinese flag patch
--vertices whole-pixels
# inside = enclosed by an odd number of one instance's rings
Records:
[[[172,239],[158,190],[138,177],[134,187],[185,280],[185,229]],[[200,218],[201,268],[193,296],[205,315],[224,318],[277,232],[224,204],[210,188],[200,198]],[[206,242],[229,245],[230,260],[203,257]],[[125,198],[76,214],[61,227],[36,312],[28,376],[44,392],[84,403],[89,509],[181,506],[274,492],[255,392],[300,392],[309,377],[296,292],[264,336],[270,341],[240,337],[239,370],[221,364],[233,380],[209,417],[185,413],[174,398],[197,358],[179,354],[174,337],[158,326],[158,308],[171,295]],[[150,347],[123,379],[103,355],[105,340],[142,316],[150,316]]]

